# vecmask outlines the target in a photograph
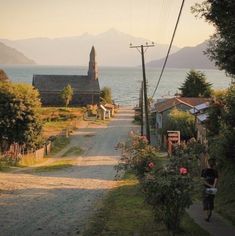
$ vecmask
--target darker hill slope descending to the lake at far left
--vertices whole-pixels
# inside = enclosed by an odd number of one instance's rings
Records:
[[[35,64],[35,62],[23,53],[0,42],[0,64]]]

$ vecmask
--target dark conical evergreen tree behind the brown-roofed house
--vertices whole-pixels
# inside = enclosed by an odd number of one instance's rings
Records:
[[[182,97],[210,97],[211,84],[206,82],[206,76],[201,71],[191,70],[187,73],[186,80],[179,88]]]

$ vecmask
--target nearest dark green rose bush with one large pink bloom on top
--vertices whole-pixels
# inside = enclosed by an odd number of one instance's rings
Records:
[[[146,176],[143,190],[152,205],[156,220],[161,220],[173,234],[178,231],[185,208],[192,204],[193,181],[187,168],[170,163]]]

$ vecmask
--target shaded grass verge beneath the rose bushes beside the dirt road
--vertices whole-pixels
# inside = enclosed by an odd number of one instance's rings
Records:
[[[83,235],[168,236],[169,234],[161,222],[154,221],[151,207],[145,203],[135,176],[126,173],[120,185],[110,191],[104,199]],[[185,215],[182,232],[178,235],[208,236],[209,234]]]

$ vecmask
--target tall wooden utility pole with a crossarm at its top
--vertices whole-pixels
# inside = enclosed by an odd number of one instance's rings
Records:
[[[136,48],[141,54],[142,72],[143,72],[143,94],[144,94],[144,108],[145,108],[144,110],[145,110],[145,123],[146,123],[146,137],[147,137],[149,143],[151,143],[151,139],[150,139],[148,95],[147,95],[147,82],[146,82],[146,74],[145,74],[144,53],[147,51],[147,49],[149,47],[154,47],[154,46],[155,45],[153,42],[152,42],[152,44],[146,43],[146,45],[138,45],[138,46],[133,46],[132,44],[130,44],[130,48]]]

